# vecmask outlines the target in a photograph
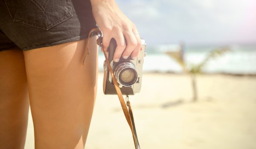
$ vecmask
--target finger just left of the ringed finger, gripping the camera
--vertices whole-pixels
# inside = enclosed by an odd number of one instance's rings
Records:
[[[122,57],[124,59],[127,59],[131,55],[131,52],[133,52],[135,47],[137,46],[137,40],[133,32],[125,32],[125,41],[126,47],[122,54]]]

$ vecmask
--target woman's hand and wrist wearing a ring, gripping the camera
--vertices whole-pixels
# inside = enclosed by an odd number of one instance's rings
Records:
[[[111,38],[116,40],[116,51],[113,59],[118,62],[122,56],[127,59],[130,55],[136,59],[140,51],[140,35],[134,34],[136,26],[117,6],[114,0],[90,0],[93,16],[103,33],[102,45],[108,49]]]

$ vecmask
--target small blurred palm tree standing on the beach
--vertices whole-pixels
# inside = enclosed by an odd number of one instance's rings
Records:
[[[202,73],[202,68],[205,66],[208,60],[219,57],[227,51],[230,51],[228,47],[212,50],[201,63],[199,63],[198,65],[192,65],[190,68],[188,67],[188,65],[186,65],[183,59],[183,45],[180,46],[180,49],[177,52],[166,52],[169,57],[173,58],[183,68],[183,71],[185,73],[190,75],[193,89],[193,102],[198,100],[196,74]]]

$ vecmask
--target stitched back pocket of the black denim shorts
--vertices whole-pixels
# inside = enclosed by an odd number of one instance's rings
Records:
[[[14,22],[49,30],[73,16],[71,0],[5,0]]]

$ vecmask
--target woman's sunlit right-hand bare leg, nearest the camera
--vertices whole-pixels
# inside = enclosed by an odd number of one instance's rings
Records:
[[[90,38],[24,51],[35,149],[83,149],[96,97],[98,50]]]

